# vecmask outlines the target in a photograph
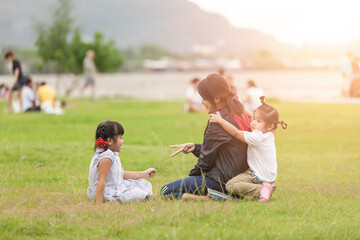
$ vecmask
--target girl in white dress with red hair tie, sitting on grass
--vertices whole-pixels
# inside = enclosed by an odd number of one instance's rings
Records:
[[[90,163],[88,196],[97,204],[108,201],[130,202],[150,198],[155,168],[145,171],[124,171],[119,152],[124,143],[124,128],[115,121],[101,122],[95,133],[95,154]]]

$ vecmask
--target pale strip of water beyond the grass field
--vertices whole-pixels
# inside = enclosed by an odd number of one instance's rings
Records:
[[[173,100],[183,99],[191,79],[206,77],[211,72],[148,72],[99,74],[96,77],[96,95],[123,96],[139,99]],[[252,79],[263,88],[267,97],[291,101],[357,102],[358,99],[345,99],[341,96],[343,78],[339,71],[241,71],[231,74],[239,94]],[[46,81],[56,86],[56,75],[33,75],[33,81]],[[60,95],[73,80],[71,75],[62,75]],[[11,75],[0,76],[0,83],[10,84]],[[72,96],[79,96],[84,79],[79,77]],[[85,95],[89,94],[89,89]]]

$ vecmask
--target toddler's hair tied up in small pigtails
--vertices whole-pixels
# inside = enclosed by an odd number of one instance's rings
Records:
[[[274,128],[272,130],[277,129],[278,124],[281,124],[283,129],[287,128],[287,124],[284,121],[279,121],[279,111],[273,106],[265,103],[265,97],[260,97],[261,106],[255,109],[255,111],[259,111],[261,117],[264,119],[266,124],[274,124]],[[255,113],[254,111],[254,113]]]

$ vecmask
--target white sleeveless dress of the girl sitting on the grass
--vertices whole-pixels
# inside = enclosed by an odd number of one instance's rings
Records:
[[[104,198],[112,201],[130,202],[150,198],[152,193],[151,183],[139,179],[124,179],[124,169],[121,166],[119,154],[110,149],[104,151],[97,149],[90,163],[88,196],[96,200],[96,184],[98,181],[98,164],[101,159],[109,158],[112,161],[109,175],[105,182]]]

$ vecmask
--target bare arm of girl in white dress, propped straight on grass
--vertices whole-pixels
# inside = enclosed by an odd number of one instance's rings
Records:
[[[112,165],[110,158],[103,158],[98,165],[98,181],[96,184],[96,204],[102,204],[104,202],[105,182]]]

